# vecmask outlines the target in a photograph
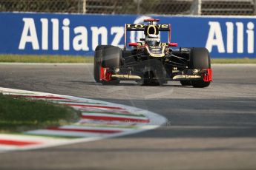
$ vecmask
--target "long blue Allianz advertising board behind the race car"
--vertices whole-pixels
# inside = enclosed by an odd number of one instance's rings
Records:
[[[214,58],[255,58],[255,17],[0,13],[1,54],[93,55],[98,44],[123,47],[125,24],[171,24],[171,42],[206,47]],[[140,32],[128,33],[136,42]],[[161,33],[162,41],[168,35]]]

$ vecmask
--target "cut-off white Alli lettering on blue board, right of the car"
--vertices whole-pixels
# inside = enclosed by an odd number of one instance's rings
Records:
[[[254,53],[255,52],[255,24],[248,22],[226,22],[220,27],[217,21],[209,21],[209,34],[206,48],[209,52],[217,47],[219,53]],[[223,36],[226,33],[225,36]],[[224,38],[225,37],[225,38]],[[226,46],[225,46],[226,44]]]

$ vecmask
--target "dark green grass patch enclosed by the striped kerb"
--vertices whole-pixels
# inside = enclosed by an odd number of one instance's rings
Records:
[[[79,118],[80,113],[68,106],[0,94],[0,132],[61,126]]]

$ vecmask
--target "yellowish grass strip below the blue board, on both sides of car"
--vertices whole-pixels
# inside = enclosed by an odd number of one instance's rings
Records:
[[[71,55],[0,55],[10,63],[93,63],[92,56]],[[211,64],[256,64],[256,58],[212,58]]]

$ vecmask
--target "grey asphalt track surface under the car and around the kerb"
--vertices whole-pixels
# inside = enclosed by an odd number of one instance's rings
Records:
[[[1,64],[0,86],[148,109],[168,118],[136,135],[0,154],[0,169],[256,169],[256,65],[213,65],[214,82],[139,86],[93,81],[92,64]]]

